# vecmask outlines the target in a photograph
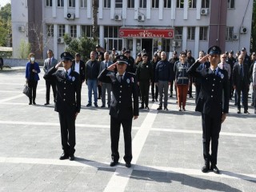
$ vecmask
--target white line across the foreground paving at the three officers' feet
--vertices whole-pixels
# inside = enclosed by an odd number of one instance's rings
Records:
[[[54,165],[54,166],[82,166],[82,167],[97,167],[97,168],[108,168],[113,169],[118,179],[122,179],[122,181],[126,182],[126,177],[130,177],[132,169],[127,169],[124,166],[116,166],[110,167],[107,162],[94,162],[94,161],[86,161],[86,160],[77,160],[70,162],[69,160],[61,161],[58,159],[49,159],[49,158],[6,158],[0,157],[0,163],[23,163],[23,164],[40,164],[40,165]],[[142,166],[142,165],[134,165],[133,170],[141,170],[141,171],[150,171],[150,172],[168,172],[174,174],[187,174],[187,175],[196,175],[196,176],[204,176],[204,177],[215,177],[215,178],[231,178],[231,179],[242,179],[248,181],[256,181],[256,174],[238,174],[232,173],[230,171],[221,171],[221,174],[214,174],[209,172],[207,174],[202,173],[200,169],[185,169],[178,167],[165,167],[165,166]],[[1,175],[0,175],[1,176]],[[129,179],[129,178],[128,178]],[[120,182],[120,180],[119,180]],[[113,191],[117,190],[118,186],[114,186]],[[122,189],[122,187],[120,188]]]

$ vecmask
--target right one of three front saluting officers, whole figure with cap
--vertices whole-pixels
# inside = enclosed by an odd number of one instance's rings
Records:
[[[221,52],[218,46],[211,46],[208,55],[198,59],[187,71],[191,77],[201,79],[201,90],[195,110],[202,113],[202,144],[205,160],[205,166],[202,167],[203,173],[213,170],[215,174],[219,174],[216,166],[218,138],[222,122],[226,119],[226,114],[229,111],[229,78],[227,71],[218,67]],[[207,58],[210,67],[197,70],[201,63],[207,61]]]

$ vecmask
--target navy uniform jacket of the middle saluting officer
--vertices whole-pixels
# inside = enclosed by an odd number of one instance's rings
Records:
[[[135,75],[126,72],[122,82],[118,82],[116,74],[117,72],[105,69],[98,75],[100,82],[109,82],[112,85],[110,115],[121,119],[138,116],[138,86]]]

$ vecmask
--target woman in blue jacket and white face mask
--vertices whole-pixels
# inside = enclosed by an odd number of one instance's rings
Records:
[[[30,53],[29,55],[29,62],[26,63],[26,83],[30,87],[30,103],[29,105],[35,103],[35,98],[37,94],[37,86],[38,86],[38,80],[40,79],[38,74],[40,73],[40,68],[37,62],[34,61],[34,53]]]

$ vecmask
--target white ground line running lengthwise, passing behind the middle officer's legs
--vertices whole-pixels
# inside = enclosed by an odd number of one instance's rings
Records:
[[[152,106],[153,109],[157,108],[157,104]],[[149,114],[146,115],[146,118],[142,122],[142,126],[139,128],[137,134],[133,140],[133,160],[132,163],[136,163],[139,157],[139,154],[142,151],[142,147],[146,142],[146,138],[150,133],[150,128],[154,123],[154,119],[158,114],[157,110],[150,110]],[[122,156],[122,155],[121,155]],[[124,163],[124,160],[121,161]],[[134,170],[134,166],[130,167],[129,169],[120,169],[117,167],[116,171],[110,178],[110,182],[107,184],[104,192],[113,192],[113,191],[124,191],[126,189],[126,185],[130,179],[130,175]]]

